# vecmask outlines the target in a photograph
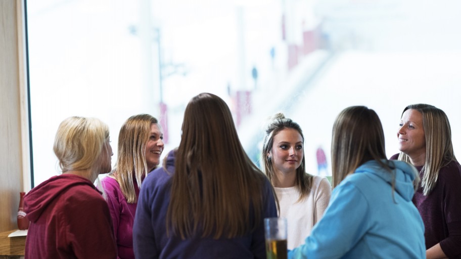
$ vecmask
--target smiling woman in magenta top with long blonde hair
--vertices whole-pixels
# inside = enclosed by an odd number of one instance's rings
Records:
[[[134,258],[132,229],[140,186],[160,163],[162,140],[156,118],[149,114],[129,117],[118,135],[116,168],[102,180],[121,259]]]

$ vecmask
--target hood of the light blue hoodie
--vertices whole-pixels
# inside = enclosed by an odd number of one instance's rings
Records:
[[[413,181],[418,176],[418,170],[409,163],[396,160],[382,160],[387,163],[392,169],[393,174],[390,174],[388,170],[384,169],[377,161],[371,160],[360,165],[354,172],[354,174],[367,173],[375,175],[385,182],[392,185],[392,178],[395,175],[395,191],[400,194],[402,198],[410,201],[414,195]]]

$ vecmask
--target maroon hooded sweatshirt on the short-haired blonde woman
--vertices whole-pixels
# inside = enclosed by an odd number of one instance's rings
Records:
[[[55,176],[24,196],[25,258],[117,258],[109,208],[89,180]]]

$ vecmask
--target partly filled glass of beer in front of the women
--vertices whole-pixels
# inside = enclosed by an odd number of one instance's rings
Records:
[[[264,219],[264,235],[267,259],[286,259],[288,257],[287,219]]]

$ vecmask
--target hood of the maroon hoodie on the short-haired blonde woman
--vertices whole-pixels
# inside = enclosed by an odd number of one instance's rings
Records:
[[[54,176],[30,190],[30,192],[24,196],[24,211],[27,214],[27,218],[31,222],[36,222],[40,218],[43,210],[45,210],[50,203],[69,188],[79,185],[88,185],[101,193],[95,185],[86,178],[71,174]]]

